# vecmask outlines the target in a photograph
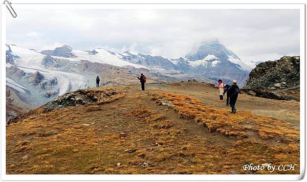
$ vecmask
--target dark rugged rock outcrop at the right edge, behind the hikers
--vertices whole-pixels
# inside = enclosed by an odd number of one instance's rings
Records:
[[[283,56],[276,61],[266,61],[258,64],[249,75],[243,91],[248,93],[252,90],[259,97],[278,100],[299,100],[297,96],[289,96],[292,90],[299,90],[300,57]],[[286,93],[286,94],[283,94]]]

